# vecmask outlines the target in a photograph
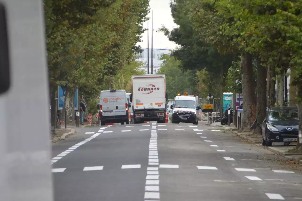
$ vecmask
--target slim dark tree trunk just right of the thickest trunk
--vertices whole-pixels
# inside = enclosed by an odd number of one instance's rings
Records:
[[[257,58],[257,129],[256,133],[261,134],[261,124],[266,116],[266,69]]]

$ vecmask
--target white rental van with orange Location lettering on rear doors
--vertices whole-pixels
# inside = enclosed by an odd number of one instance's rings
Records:
[[[101,91],[100,119],[102,126],[106,123],[130,123],[125,90]]]

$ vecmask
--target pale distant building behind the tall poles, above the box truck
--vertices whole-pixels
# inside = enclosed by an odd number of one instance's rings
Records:
[[[173,49],[154,49],[153,48],[153,74],[156,74],[159,70],[160,65],[162,64],[162,61],[160,61],[160,57],[162,54],[169,54],[171,53],[171,50]],[[144,70],[147,71],[147,63],[148,63],[148,50],[143,49],[143,52],[139,55],[137,55],[137,61],[143,62],[145,65],[143,67]],[[149,74],[151,74],[151,48],[149,48]]]

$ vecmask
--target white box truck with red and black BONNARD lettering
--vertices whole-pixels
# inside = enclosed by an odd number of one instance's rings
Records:
[[[157,121],[165,123],[166,117],[165,74],[133,75],[131,102],[134,123]]]

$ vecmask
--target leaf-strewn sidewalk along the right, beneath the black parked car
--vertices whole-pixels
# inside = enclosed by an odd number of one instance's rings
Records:
[[[290,150],[294,149],[294,143],[291,146],[284,146],[283,143],[274,143],[273,146],[271,147],[266,147],[262,145],[262,137],[261,135],[255,135],[253,131],[250,132],[239,132],[237,128],[233,124],[230,126],[228,125],[221,125],[220,123],[212,123],[211,126],[217,127],[217,129],[220,130],[228,130],[231,131],[232,133],[238,135],[240,138],[245,139],[249,143],[255,144],[258,147],[263,147],[266,148],[272,152],[275,152],[277,154],[281,154],[284,157],[291,159],[291,160],[296,160],[299,162],[299,164],[302,165],[302,153],[292,153],[289,152]]]

